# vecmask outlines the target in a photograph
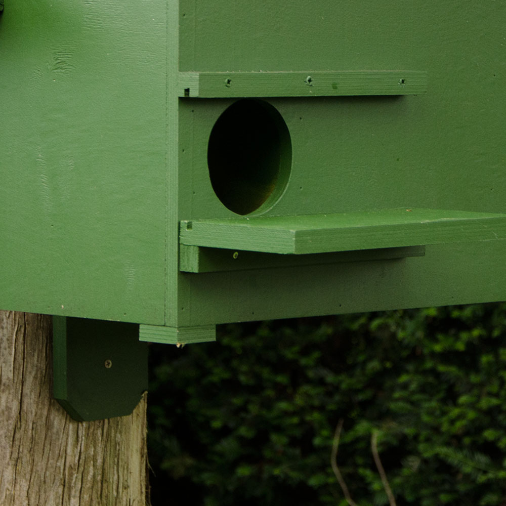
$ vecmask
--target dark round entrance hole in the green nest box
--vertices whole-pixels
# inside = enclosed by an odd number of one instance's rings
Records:
[[[267,102],[243,99],[216,121],[207,146],[213,190],[239,215],[271,207],[291,167],[291,141],[281,114]]]

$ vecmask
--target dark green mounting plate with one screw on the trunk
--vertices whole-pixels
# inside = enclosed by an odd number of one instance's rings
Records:
[[[147,344],[134,323],[55,316],[54,397],[78,421],[132,413],[148,388]]]

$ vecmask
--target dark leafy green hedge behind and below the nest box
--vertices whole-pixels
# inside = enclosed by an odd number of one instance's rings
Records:
[[[153,346],[153,506],[506,504],[506,305],[219,327]]]

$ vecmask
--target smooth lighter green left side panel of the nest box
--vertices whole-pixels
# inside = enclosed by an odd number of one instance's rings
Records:
[[[9,0],[0,307],[163,324],[165,4]]]

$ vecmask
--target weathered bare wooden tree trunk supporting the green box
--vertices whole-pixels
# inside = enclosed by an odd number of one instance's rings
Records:
[[[144,506],[146,398],[71,419],[52,398],[51,317],[0,311],[0,504]]]

